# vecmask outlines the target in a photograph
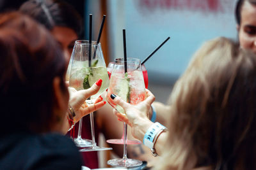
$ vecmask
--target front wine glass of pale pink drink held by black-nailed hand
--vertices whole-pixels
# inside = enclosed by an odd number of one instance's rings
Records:
[[[124,64],[127,65],[127,73],[125,73]],[[146,97],[145,83],[141,71],[139,59],[123,58],[115,59],[115,64],[111,73],[110,84],[107,94],[108,103],[118,112],[125,114],[121,106],[111,102],[111,94],[120,96],[124,101],[131,104],[138,104]],[[135,167],[140,166],[142,162],[136,159],[127,159],[127,124],[124,124],[124,156],[122,159],[108,160],[111,166]]]

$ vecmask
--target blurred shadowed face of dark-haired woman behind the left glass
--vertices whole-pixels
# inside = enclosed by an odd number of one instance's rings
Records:
[[[60,43],[64,55],[69,61],[74,43],[78,38],[76,32],[68,27],[55,26],[51,33],[58,43]]]

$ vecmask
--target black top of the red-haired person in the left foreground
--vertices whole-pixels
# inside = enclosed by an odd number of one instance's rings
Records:
[[[0,138],[0,169],[79,169],[73,141],[60,134],[12,134]]]

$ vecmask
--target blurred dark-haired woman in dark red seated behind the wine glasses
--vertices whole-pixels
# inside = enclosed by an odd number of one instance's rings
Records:
[[[30,0],[20,7],[20,11],[35,18],[36,21],[45,25],[58,43],[65,51],[67,59],[70,58],[74,41],[79,38],[82,28],[82,20],[78,13],[70,4],[64,3],[61,0]],[[63,31],[60,31],[62,29]],[[57,30],[57,31],[54,31]],[[69,30],[74,34],[69,34],[64,30]],[[112,114],[112,107],[108,104],[97,110],[95,115],[95,141],[98,142],[99,134],[102,133],[105,139],[118,139],[122,137],[123,124],[118,121],[115,115]],[[75,138],[78,132],[78,124],[75,125]],[[92,139],[90,117],[83,118],[82,138]],[[129,139],[132,138],[129,133]],[[122,157],[123,148],[118,145],[110,145],[116,155]],[[128,146],[127,153],[129,157],[149,160],[154,159],[147,148],[143,145]],[[99,167],[99,159],[97,152],[83,152],[84,166],[95,169]]]

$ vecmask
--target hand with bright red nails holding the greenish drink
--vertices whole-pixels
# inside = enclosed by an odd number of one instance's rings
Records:
[[[92,113],[93,111],[99,110],[99,108],[106,104],[105,101],[102,101],[102,97],[97,98],[95,103],[90,106],[88,106],[85,102],[88,97],[96,94],[99,91],[101,83],[102,80],[99,79],[89,89],[79,91],[72,87],[68,87],[68,91],[70,94],[69,104],[70,106],[72,106],[76,113],[76,121],[79,121],[82,117],[88,115],[89,113]]]

